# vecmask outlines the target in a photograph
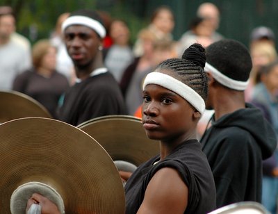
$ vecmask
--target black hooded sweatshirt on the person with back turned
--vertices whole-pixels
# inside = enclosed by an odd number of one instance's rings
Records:
[[[262,161],[277,146],[275,131],[261,110],[247,104],[212,121],[201,142],[215,179],[217,207],[261,202]]]

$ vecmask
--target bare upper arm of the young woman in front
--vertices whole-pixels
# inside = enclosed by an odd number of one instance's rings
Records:
[[[149,181],[138,214],[184,213],[187,204],[188,187],[177,170],[165,167]]]

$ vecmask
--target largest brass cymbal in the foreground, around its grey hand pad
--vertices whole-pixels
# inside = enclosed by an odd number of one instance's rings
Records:
[[[108,153],[70,124],[39,117],[0,125],[0,210],[10,196],[37,181],[63,198],[65,213],[124,213],[124,188]]]

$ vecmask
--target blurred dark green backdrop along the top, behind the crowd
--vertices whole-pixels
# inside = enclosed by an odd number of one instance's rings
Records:
[[[31,42],[46,38],[53,31],[56,19],[61,13],[79,8],[104,10],[111,17],[124,19],[131,29],[131,42],[142,27],[147,26],[149,15],[154,8],[165,4],[170,6],[176,17],[174,38],[178,40],[188,29],[190,20],[195,17],[197,7],[205,0],[0,0],[0,5],[10,5],[17,17],[17,31],[26,35]],[[218,31],[227,38],[234,38],[248,45],[252,28],[265,25],[278,34],[277,0],[230,1],[212,0],[221,12]],[[37,29],[35,36],[32,30]]]

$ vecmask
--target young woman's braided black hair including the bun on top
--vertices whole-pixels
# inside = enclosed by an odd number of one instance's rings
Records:
[[[182,83],[195,90],[204,100],[208,96],[208,77],[204,72],[206,63],[205,49],[201,44],[192,44],[182,58],[163,61],[157,69],[167,69]],[[177,75],[176,75],[177,74]]]

